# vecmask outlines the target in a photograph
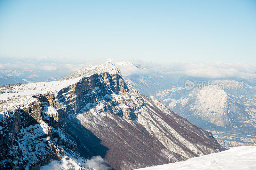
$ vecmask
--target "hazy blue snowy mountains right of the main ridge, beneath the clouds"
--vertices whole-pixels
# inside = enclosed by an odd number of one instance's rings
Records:
[[[244,88],[238,90],[223,90],[216,86],[209,86],[201,91],[196,88],[186,90],[186,80],[208,82],[218,79],[179,77],[165,74],[164,68],[160,66],[161,71],[156,68],[152,71],[146,66],[128,61],[117,62],[110,59],[108,62],[114,63],[121,71],[130,70],[124,77],[132,82],[135,89],[155,96],[169,109],[201,128],[256,133],[254,86],[245,83]]]

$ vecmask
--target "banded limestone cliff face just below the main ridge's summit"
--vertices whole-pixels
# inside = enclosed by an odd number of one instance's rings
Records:
[[[114,99],[111,94],[119,95],[122,93],[127,96]],[[137,93],[138,95],[138,93]],[[97,113],[111,110],[114,114],[124,117],[128,120],[134,120],[138,117],[138,111],[143,105],[143,101],[137,98],[139,104],[135,104],[124,79],[118,74],[93,74],[90,77],[84,77],[76,84],[61,89],[58,93],[58,102],[64,103],[70,113],[81,113],[94,108],[95,105],[103,103],[101,108],[97,108]],[[124,106],[124,107],[120,107]]]

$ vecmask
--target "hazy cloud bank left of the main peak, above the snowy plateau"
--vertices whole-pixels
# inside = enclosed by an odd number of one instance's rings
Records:
[[[0,58],[0,75],[15,76],[29,81],[46,81],[52,76],[60,78],[86,65],[100,63],[91,59],[49,56]]]

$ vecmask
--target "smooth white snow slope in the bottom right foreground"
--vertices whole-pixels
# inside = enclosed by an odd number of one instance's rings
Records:
[[[256,146],[239,146],[185,161],[150,166],[138,170],[167,169],[256,169]]]

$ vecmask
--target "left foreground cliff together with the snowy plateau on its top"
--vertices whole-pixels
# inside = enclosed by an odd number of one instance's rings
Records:
[[[39,169],[51,160],[65,160],[67,168],[85,167],[86,160],[66,132],[66,106],[57,103],[52,92],[37,93],[41,89],[36,87],[29,83],[1,88],[0,169]]]

